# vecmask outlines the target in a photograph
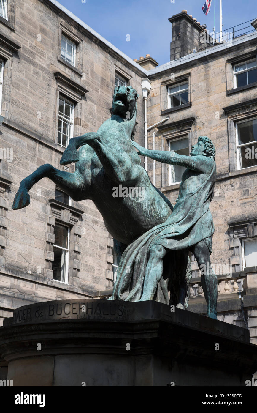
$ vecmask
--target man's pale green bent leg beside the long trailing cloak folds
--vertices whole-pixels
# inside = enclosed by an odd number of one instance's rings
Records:
[[[153,245],[150,248],[149,259],[144,277],[143,294],[139,301],[153,299],[158,282],[163,275],[163,258],[165,254],[166,250],[162,245]]]

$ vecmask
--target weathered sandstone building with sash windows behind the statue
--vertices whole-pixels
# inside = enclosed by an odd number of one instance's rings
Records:
[[[68,139],[108,119],[115,84],[141,94],[135,140],[143,146],[144,80],[150,149],[188,155],[199,135],[214,142],[218,318],[247,326],[257,344],[256,21],[219,43],[185,10],[169,20],[170,62],[158,66],[150,55],[130,59],[55,0],[0,0],[1,320],[31,302],[111,294],[113,240],[92,201],[75,202],[44,178],[28,207],[13,211],[12,202],[38,166],[74,171],[59,165]],[[174,204],[182,168],[148,159],[147,171]],[[204,314],[191,261],[189,310]]]

